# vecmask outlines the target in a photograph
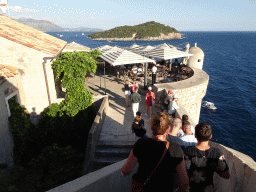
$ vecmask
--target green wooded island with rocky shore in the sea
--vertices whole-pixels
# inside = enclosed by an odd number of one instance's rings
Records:
[[[175,28],[155,21],[134,26],[121,26],[88,35],[94,40],[162,40],[181,39],[181,33]]]

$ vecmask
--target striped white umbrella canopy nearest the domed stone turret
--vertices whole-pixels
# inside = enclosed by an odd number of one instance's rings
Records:
[[[184,51],[179,51],[177,50],[176,47],[173,47],[172,45],[168,45],[167,43],[163,43],[161,45],[156,46],[154,49],[151,49],[150,51],[148,51],[147,56],[167,60],[167,59],[193,56],[193,54],[189,54]]]

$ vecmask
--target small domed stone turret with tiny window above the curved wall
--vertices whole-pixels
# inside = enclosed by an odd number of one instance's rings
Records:
[[[189,49],[189,53],[193,54],[192,57],[188,60],[188,67],[190,68],[198,68],[203,69],[203,63],[204,63],[204,52],[202,49],[197,47],[197,43],[195,43],[194,47],[191,47]]]

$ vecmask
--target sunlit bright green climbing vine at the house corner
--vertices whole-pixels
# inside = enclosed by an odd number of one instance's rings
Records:
[[[101,54],[99,50],[86,52],[65,52],[53,62],[56,78],[61,77],[62,86],[66,87],[67,99],[61,104],[61,110],[67,115],[75,116],[79,111],[92,105],[92,95],[85,88],[85,75],[96,72],[95,59]]]

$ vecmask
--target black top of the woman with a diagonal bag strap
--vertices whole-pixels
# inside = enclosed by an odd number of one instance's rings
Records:
[[[166,142],[152,138],[138,140],[133,148],[133,154],[138,158],[139,168],[133,179],[144,182],[152,173],[163,155]],[[178,144],[170,142],[170,147],[157,167],[156,171],[145,186],[144,191],[161,191],[173,188],[173,174],[176,166],[183,160],[184,153]]]

